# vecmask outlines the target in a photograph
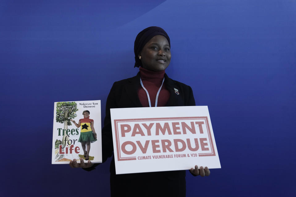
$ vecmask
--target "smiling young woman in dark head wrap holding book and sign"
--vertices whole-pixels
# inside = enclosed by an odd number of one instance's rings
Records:
[[[113,155],[110,109],[129,107],[195,106],[190,86],[170,79],[165,69],[171,60],[170,39],[160,27],[141,31],[134,45],[135,67],[140,72],[134,77],[113,84],[106,103],[106,117],[102,129],[103,162]],[[148,99],[150,97],[150,99]],[[71,167],[93,170],[93,165],[76,160]],[[208,176],[210,170],[202,166],[190,169],[194,176]],[[110,165],[111,196],[184,196],[186,195],[185,170],[115,174],[114,156]]]

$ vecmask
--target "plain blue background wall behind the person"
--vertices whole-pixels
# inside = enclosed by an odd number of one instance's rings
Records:
[[[135,36],[160,26],[166,72],[209,106],[222,166],[187,172],[187,196],[295,196],[295,20],[294,0],[2,0],[0,195],[110,194],[110,158],[51,164],[53,102],[100,99],[104,118],[113,82],[138,72]]]

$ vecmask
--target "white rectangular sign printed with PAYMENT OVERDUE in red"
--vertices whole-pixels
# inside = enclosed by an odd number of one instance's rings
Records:
[[[221,168],[207,106],[110,112],[116,174]]]

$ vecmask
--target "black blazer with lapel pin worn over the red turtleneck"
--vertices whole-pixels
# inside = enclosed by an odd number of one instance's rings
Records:
[[[195,106],[194,96],[190,86],[172,80],[166,74],[164,84],[166,89],[170,92],[169,100],[165,106]],[[104,127],[102,129],[102,162],[105,162],[108,157],[113,155],[110,109],[143,107],[138,97],[137,91],[139,87],[140,72],[138,72],[138,74],[134,77],[115,82],[110,90],[106,103],[106,117],[104,120]],[[174,88],[177,89],[179,94],[175,92]],[[93,170],[97,165],[98,164],[95,164],[93,167],[85,170]],[[135,186],[140,184],[136,188],[139,188],[139,191],[143,191],[144,188],[141,186],[143,186],[143,184],[149,185],[152,182],[154,189],[156,189],[155,187],[157,183],[159,183],[158,185],[161,185],[160,188],[170,188],[170,191],[172,191],[170,196],[185,196],[186,193],[185,170],[116,175],[115,161],[113,156],[110,164],[110,173],[112,196],[123,195],[122,191],[127,191],[127,188],[130,188],[128,185]],[[133,188],[135,189],[135,187]],[[172,188],[174,189],[172,190]],[[116,194],[116,192],[119,191],[120,193]],[[165,192],[165,196],[168,196],[168,191]],[[152,193],[145,194],[152,195]],[[143,195],[143,193],[141,193],[141,195]],[[153,193],[153,195],[158,196],[155,193]],[[129,194],[129,196],[131,196],[131,194]]]

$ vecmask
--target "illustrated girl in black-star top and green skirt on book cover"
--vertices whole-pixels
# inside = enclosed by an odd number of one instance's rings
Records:
[[[90,119],[90,111],[85,110],[82,114],[84,118],[80,119],[78,124],[73,119],[71,121],[77,128],[81,126],[78,142],[81,142],[85,160],[89,160],[90,143],[97,141],[97,133],[94,130],[94,120]],[[87,147],[86,150],[85,145]]]

